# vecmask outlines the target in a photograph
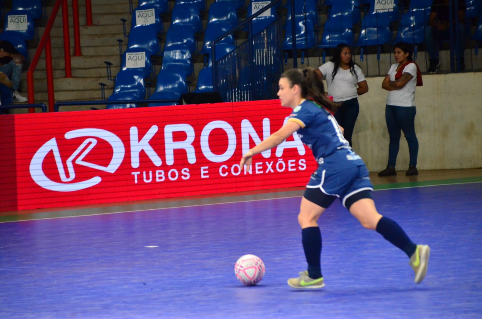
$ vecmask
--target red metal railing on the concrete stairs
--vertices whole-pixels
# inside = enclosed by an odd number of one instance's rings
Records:
[[[65,59],[65,76],[66,78],[72,77],[72,67],[70,61],[70,35],[68,30],[68,7],[67,7],[67,0],[57,0],[54,4],[54,9],[47,21],[47,26],[45,27],[45,31],[40,38],[39,46],[37,47],[37,51],[35,52],[32,61],[30,62],[30,66],[27,70],[27,96],[28,96],[28,103],[35,103],[35,91],[34,91],[34,80],[33,80],[33,73],[37,68],[37,64],[39,63],[40,55],[42,54],[43,50],[45,49],[45,66],[47,72],[47,94],[48,94],[48,102],[49,102],[49,112],[54,111],[54,70],[52,66],[52,44],[50,39],[50,32],[52,31],[52,27],[54,26],[55,18],[57,17],[57,13],[62,5],[62,25],[63,25],[63,32],[64,32],[64,59]],[[85,0],[86,5],[86,14],[87,14],[87,25],[92,25],[92,9],[91,9],[91,1]],[[79,4],[78,0],[72,0],[72,14],[73,14],[73,23],[74,23],[74,54],[76,56],[81,55],[80,53],[80,32],[79,32]],[[34,112],[34,108],[28,109],[29,113]]]

